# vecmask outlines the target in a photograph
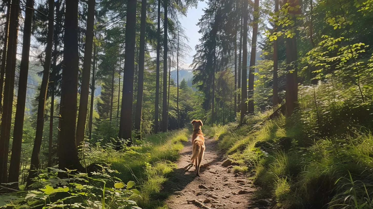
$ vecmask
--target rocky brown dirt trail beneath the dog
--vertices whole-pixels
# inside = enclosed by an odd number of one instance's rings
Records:
[[[190,139],[189,139],[190,140]],[[253,200],[253,184],[243,175],[233,174],[232,166],[222,165],[223,153],[217,149],[217,141],[205,138],[206,151],[201,162],[200,175],[196,177],[195,167],[188,166],[192,156],[192,144],[184,143],[178,169],[164,185],[164,190],[173,192],[166,200],[170,209],[200,209],[192,200],[208,208],[247,209],[263,208]],[[208,164],[208,165],[206,165]],[[206,188],[207,187],[207,188]],[[197,203],[198,204],[198,203]],[[206,208],[205,208],[206,209]]]

